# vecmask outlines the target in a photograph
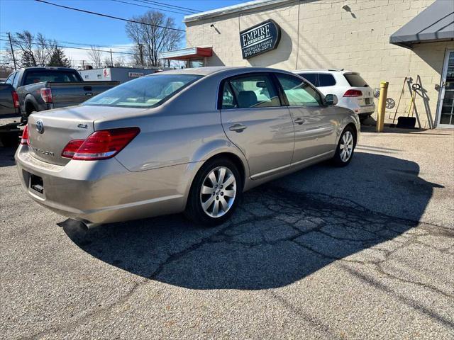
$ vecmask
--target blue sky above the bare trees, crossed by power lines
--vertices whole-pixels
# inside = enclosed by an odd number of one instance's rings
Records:
[[[111,0],[48,0],[55,4],[82,8],[88,11],[131,18],[138,16],[152,8],[133,6]],[[122,0],[142,6],[158,7],[145,4],[143,1]],[[193,8],[198,11],[209,11],[214,8],[231,6],[246,2],[245,0],[156,0],[169,5]],[[184,29],[182,23],[184,14],[162,12],[175,18],[179,28]],[[178,11],[176,8],[170,11]],[[43,33],[46,38],[58,41],[82,42],[92,45],[118,46],[118,50],[125,50],[130,41],[125,30],[125,22],[111,18],[102,18],[92,14],[71,11],[33,0],[0,0],[0,37],[6,38],[7,32],[29,30],[31,33]],[[5,41],[0,40],[0,50],[6,47]],[[182,42],[184,45],[184,40]],[[114,49],[115,50],[115,49]],[[82,50],[65,50],[73,60],[84,59],[86,52]]]

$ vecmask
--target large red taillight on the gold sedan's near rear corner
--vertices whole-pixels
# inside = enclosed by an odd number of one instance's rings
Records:
[[[94,161],[114,157],[140,132],[139,128],[101,130],[87,140],[72,140],[62,151],[62,157]]]

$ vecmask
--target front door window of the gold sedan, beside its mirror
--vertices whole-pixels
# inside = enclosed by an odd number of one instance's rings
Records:
[[[304,80],[288,74],[277,74],[289,106],[322,106],[319,92]]]

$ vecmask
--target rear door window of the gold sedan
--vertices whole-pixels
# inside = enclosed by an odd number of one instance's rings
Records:
[[[248,74],[230,79],[228,84],[238,108],[281,106],[275,86],[266,74]]]

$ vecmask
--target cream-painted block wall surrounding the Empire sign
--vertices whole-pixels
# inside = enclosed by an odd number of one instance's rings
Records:
[[[214,57],[207,66],[265,66],[280,69],[339,68],[360,72],[377,87],[389,81],[388,97],[398,101],[404,77],[419,75],[426,94],[416,98],[423,128],[436,121],[438,91],[445,50],[454,42],[425,43],[413,50],[389,44],[389,35],[423,11],[434,0],[319,0],[289,1],[247,13],[187,23],[187,47],[211,45]],[[342,8],[348,4],[350,11]],[[282,31],[276,50],[243,60],[240,30],[275,20]],[[214,23],[214,28],[210,25]],[[397,116],[409,109],[409,87],[405,86]],[[426,104],[426,105],[425,105]],[[394,116],[395,108],[387,112]],[[429,117],[426,114],[428,111]]]

